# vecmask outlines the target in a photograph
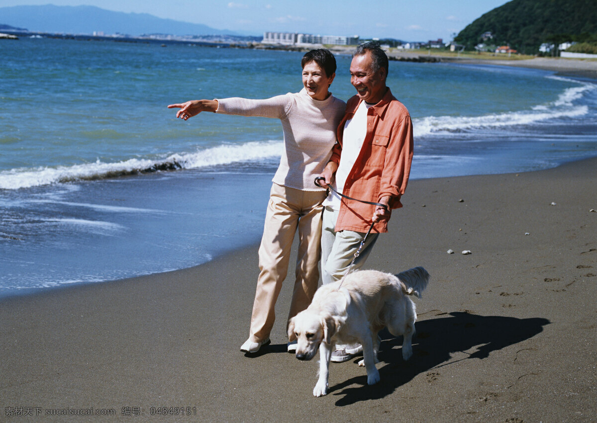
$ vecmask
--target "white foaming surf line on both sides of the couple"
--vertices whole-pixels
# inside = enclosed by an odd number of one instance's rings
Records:
[[[578,100],[595,91],[597,85],[574,81],[559,76],[549,76],[563,82],[574,82],[576,87],[564,89],[556,100],[538,104],[529,110],[494,113],[482,116],[427,116],[413,119],[414,137],[427,135],[450,135],[495,129],[508,126],[533,125],[554,119],[580,118],[589,113],[589,106],[578,104]],[[282,141],[252,141],[243,144],[223,144],[198,150],[193,153],[174,153],[168,156],[143,159],[134,158],[120,162],[82,163],[72,166],[44,166],[0,171],[0,189],[14,190],[57,183],[82,180],[100,180],[156,171],[176,169],[198,169],[230,163],[279,157],[284,145]]]

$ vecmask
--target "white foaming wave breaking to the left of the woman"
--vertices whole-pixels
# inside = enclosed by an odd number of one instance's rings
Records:
[[[0,189],[14,190],[73,181],[100,180],[176,169],[197,169],[235,162],[281,156],[282,141],[253,141],[176,153],[163,159],[128,159],[121,162],[83,163],[72,166],[10,169],[0,172]]]

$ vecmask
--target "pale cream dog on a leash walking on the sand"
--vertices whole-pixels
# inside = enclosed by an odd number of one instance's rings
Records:
[[[330,357],[336,344],[363,346],[359,366],[367,369],[367,384],[379,381],[376,368],[379,341],[384,327],[394,336],[404,335],[402,357],[413,355],[412,338],[417,313],[409,295],[420,293],[429,282],[429,273],[415,267],[397,275],[376,270],[359,270],[340,282],[321,286],[306,310],[288,323],[288,337],[297,339],[296,357],[312,359],[319,349],[319,379],[313,395],[327,394]],[[340,286],[340,289],[338,289]]]

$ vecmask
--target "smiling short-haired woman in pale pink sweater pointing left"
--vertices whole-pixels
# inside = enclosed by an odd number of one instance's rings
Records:
[[[277,118],[284,131],[284,153],[273,177],[263,237],[259,247],[260,273],[253,303],[249,338],[244,353],[269,344],[274,306],[290,260],[298,230],[296,279],[288,319],[307,308],[319,282],[321,212],[325,189],[313,184],[324,170],[336,142],[336,128],[346,104],[329,91],[336,76],[336,59],[325,49],[312,50],[301,60],[303,89],[266,100],[223,98],[170,104],[185,121],[200,112]],[[288,343],[288,351],[296,342]]]

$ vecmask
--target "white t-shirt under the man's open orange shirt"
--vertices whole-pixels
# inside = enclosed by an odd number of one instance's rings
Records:
[[[346,178],[348,178],[352,166],[355,165],[356,159],[358,159],[359,153],[361,153],[363,141],[365,141],[365,136],[367,135],[367,110],[373,106],[375,104],[367,104],[365,101],[361,101],[352,119],[344,123],[342,154],[336,171],[336,181],[332,184],[338,192],[344,191]],[[340,199],[341,197],[338,194],[330,190],[330,194],[324,201],[324,206],[330,206],[334,210],[339,210]]]

